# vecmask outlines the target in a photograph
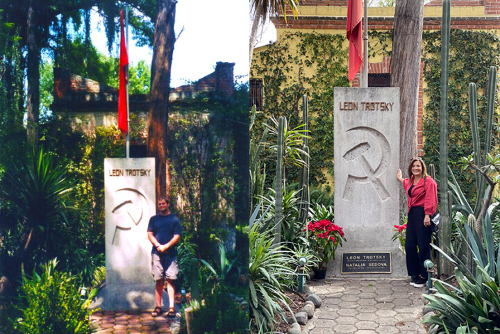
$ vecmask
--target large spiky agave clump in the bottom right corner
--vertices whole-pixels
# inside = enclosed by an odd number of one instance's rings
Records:
[[[469,217],[474,217],[470,215]],[[499,333],[500,331],[500,252],[494,251],[490,215],[483,221],[484,240],[478,233],[464,224],[466,233],[458,229],[462,242],[472,252],[476,268],[471,270],[453,252],[446,253],[431,244],[442,256],[455,265],[458,287],[440,280],[434,282],[437,293],[427,296],[428,307],[438,311],[424,322],[437,326],[437,333]],[[447,289],[448,287],[448,289]],[[451,291],[449,291],[451,288]]]

